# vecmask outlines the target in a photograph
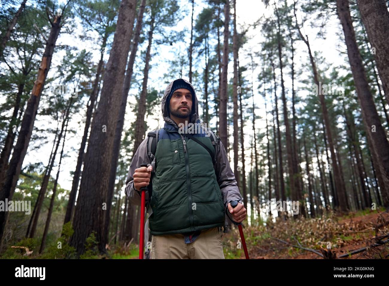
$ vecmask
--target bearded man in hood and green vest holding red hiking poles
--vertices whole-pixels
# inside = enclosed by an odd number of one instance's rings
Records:
[[[145,138],[131,161],[125,189],[130,203],[140,206],[139,190],[149,185],[151,171],[154,172],[150,201],[149,192],[145,194],[149,202],[151,258],[224,259],[221,227],[225,225],[225,209],[237,223],[246,218],[224,146],[216,141],[214,164],[215,149],[210,134],[199,128],[198,101],[188,81],[172,81],[166,87],[161,107],[165,126],[159,131],[155,170],[151,165],[140,167],[150,162]],[[189,127],[189,123],[197,129]],[[239,203],[232,208],[231,201]]]

